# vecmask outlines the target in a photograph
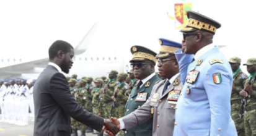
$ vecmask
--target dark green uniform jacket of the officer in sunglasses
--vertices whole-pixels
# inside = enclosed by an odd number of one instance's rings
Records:
[[[125,115],[128,115],[135,111],[136,109],[140,108],[146,100],[148,100],[149,96],[151,95],[152,88],[154,84],[159,81],[159,77],[154,75],[151,79],[149,79],[146,83],[143,84],[139,90],[136,91],[136,86],[133,87],[131,90],[130,96],[128,101],[125,105]],[[139,97],[138,97],[139,94]],[[146,98],[144,97],[146,96]],[[139,100],[141,98],[141,100]],[[124,121],[125,122],[125,121]],[[152,135],[152,122],[153,118],[150,117],[148,121],[143,122],[142,124],[133,127],[133,129],[126,130],[125,136],[131,135]],[[128,127],[128,126],[125,126]]]

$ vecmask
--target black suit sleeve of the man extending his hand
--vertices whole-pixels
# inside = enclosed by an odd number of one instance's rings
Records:
[[[95,116],[79,106],[71,95],[68,82],[63,74],[57,73],[51,77],[50,94],[66,114],[95,130],[102,129],[104,119],[102,117]]]

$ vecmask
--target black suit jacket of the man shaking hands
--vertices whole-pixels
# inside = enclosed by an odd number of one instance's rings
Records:
[[[70,116],[96,130],[101,130],[104,119],[84,110],[74,100],[66,78],[48,65],[35,82],[34,136],[70,136]]]

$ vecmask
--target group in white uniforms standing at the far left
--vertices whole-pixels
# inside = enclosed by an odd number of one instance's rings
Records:
[[[29,111],[33,117],[33,84],[35,80],[0,80],[1,122],[28,125]],[[33,119],[32,119],[33,121]]]

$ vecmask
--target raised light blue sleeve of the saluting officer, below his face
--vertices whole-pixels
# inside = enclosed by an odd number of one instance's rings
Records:
[[[181,53],[181,51],[181,49],[175,51],[175,57],[179,63],[180,79],[184,84],[187,77],[188,65],[192,62],[193,55]]]

